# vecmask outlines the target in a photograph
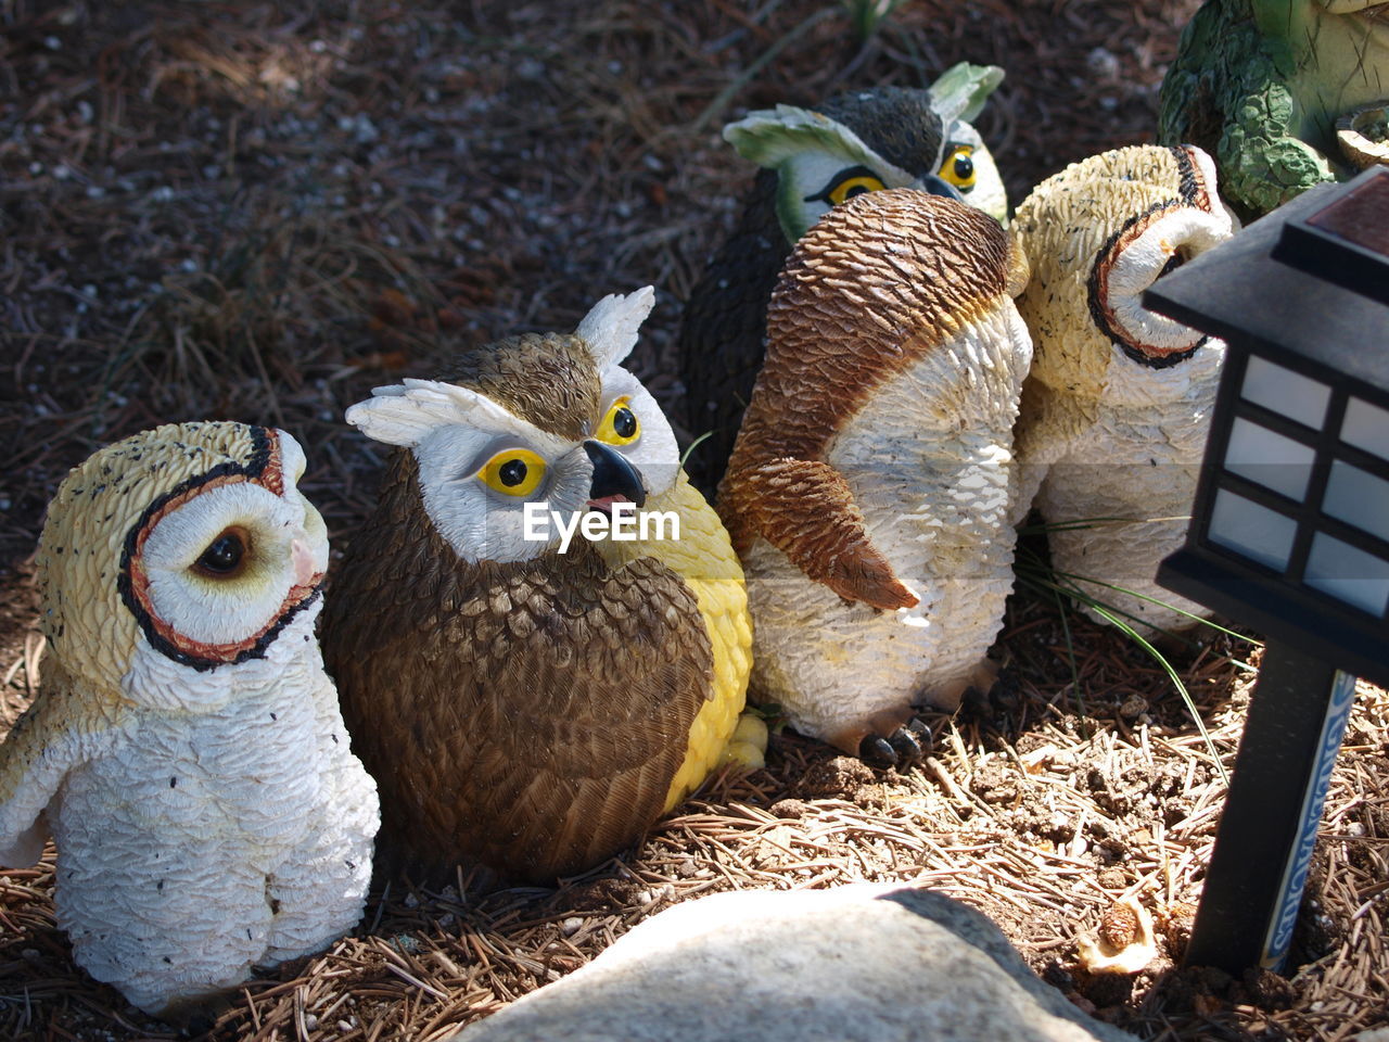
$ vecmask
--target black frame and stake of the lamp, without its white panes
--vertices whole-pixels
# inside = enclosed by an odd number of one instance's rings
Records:
[[[1236,974],[1281,968],[1354,704],[1353,674],[1389,686],[1389,618],[1304,581],[1317,532],[1389,560],[1389,540],[1321,513],[1333,458],[1389,478],[1389,452],[1381,457],[1339,440],[1351,396],[1389,411],[1389,249],[1382,249],[1383,228],[1354,224],[1364,213],[1378,220],[1386,186],[1389,169],[1379,169],[1307,192],[1145,293],[1151,310],[1229,345],[1192,528],[1157,579],[1268,638],[1183,957],[1189,966]],[[1332,214],[1357,192],[1356,206]],[[1371,339],[1365,350],[1374,329],[1383,331],[1382,340]],[[1251,353],[1329,388],[1320,429],[1242,397]],[[1300,503],[1224,468],[1239,417],[1313,449]],[[1283,570],[1210,539],[1222,488],[1296,520]]]

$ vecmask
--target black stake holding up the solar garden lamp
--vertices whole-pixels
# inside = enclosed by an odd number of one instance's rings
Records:
[[[1186,966],[1282,966],[1354,696],[1354,677],[1265,647]]]

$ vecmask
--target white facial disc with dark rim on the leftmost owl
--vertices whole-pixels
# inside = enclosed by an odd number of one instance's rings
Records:
[[[261,657],[315,599],[328,567],[304,453],[282,431],[150,504],[126,536],[119,588],[149,643],[196,670]]]

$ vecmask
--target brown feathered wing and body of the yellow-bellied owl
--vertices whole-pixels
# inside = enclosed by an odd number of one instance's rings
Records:
[[[426,874],[583,871],[656,821],[685,757],[713,674],[694,596],[661,564],[613,572],[578,542],[469,565],[415,504],[383,500],[324,615],[382,847]]]

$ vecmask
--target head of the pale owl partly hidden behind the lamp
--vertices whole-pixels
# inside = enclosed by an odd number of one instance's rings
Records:
[[[1143,290],[1235,228],[1195,146],[1115,149],[1043,181],[1013,222],[1032,267],[1018,299],[1032,377],[1085,397],[1183,393],[1222,345],[1149,311]]]

